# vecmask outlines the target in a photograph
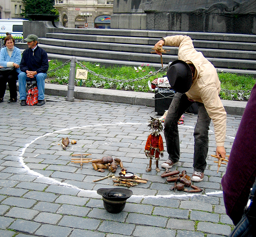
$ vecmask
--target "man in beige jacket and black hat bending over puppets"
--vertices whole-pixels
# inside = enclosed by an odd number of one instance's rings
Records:
[[[212,119],[216,140],[216,155],[225,157],[226,111],[219,97],[220,80],[214,66],[194,49],[189,36],[176,35],[162,38],[155,44],[156,54],[162,55],[162,46],[179,47],[178,60],[170,64],[167,77],[176,94],[164,121],[168,160],[162,167],[171,168],[180,159],[178,120],[193,104],[198,104],[198,118],[194,129],[194,172],[191,180],[204,179],[208,153],[208,130]]]

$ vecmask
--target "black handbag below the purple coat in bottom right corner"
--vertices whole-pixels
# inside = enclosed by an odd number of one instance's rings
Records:
[[[248,197],[247,205],[244,207],[244,215],[239,223],[234,227],[229,237],[253,237],[256,235],[256,199],[254,195],[256,193],[256,179],[252,188],[250,189],[250,195]]]

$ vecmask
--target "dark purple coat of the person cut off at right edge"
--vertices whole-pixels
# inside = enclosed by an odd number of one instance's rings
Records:
[[[256,84],[236,133],[226,174],[221,184],[227,215],[236,225],[256,177]]]

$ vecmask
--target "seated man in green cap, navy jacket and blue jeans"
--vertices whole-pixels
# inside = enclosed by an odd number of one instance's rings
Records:
[[[25,39],[28,49],[22,54],[19,79],[20,105],[26,106],[26,82],[36,80],[38,87],[38,106],[44,105],[44,80],[49,68],[48,56],[45,50],[38,46],[38,37],[34,34]]]

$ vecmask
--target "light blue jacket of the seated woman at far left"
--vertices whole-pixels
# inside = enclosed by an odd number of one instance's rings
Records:
[[[20,49],[14,46],[14,50],[12,51],[12,56],[10,57],[6,47],[2,48],[0,51],[0,66],[6,68],[8,62],[14,62],[20,65],[21,53]],[[16,68],[16,72],[21,73],[20,68]]]

